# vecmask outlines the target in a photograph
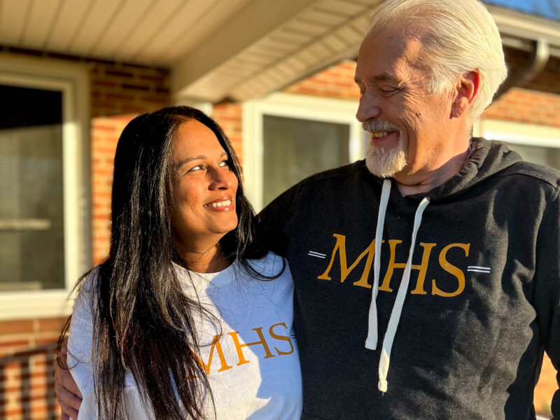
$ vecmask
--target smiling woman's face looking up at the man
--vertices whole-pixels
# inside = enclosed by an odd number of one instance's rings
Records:
[[[200,252],[237,227],[237,178],[216,135],[197,120],[177,130],[171,223],[178,251]]]

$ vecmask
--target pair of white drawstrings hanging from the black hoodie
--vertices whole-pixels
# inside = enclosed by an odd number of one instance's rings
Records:
[[[370,314],[368,317],[369,325],[367,330],[367,339],[365,340],[365,347],[371,350],[374,350],[377,347],[377,305],[375,300],[377,299],[377,288],[379,287],[379,254],[381,253],[383,225],[390,190],[391,181],[386,179],[383,181],[381,200],[379,202],[379,214],[377,216],[377,230],[375,232],[374,284],[372,286],[372,303],[370,304]],[[400,321],[400,314],[402,312],[402,307],[405,304],[405,297],[408,291],[410,272],[412,270],[412,255],[414,254],[414,245],[416,244],[416,233],[418,232],[422,222],[423,211],[426,207],[428,207],[429,202],[430,200],[424,197],[416,209],[416,214],[414,214],[414,227],[412,228],[412,239],[410,241],[408,260],[405,265],[405,272],[402,273],[402,279],[400,280],[395,304],[393,304],[393,310],[391,311],[391,318],[389,318],[389,323],[383,339],[381,356],[379,358],[379,383],[377,384],[377,388],[379,388],[379,391],[383,393],[387,391],[387,372],[389,369],[389,360],[391,358],[391,347],[393,346],[393,339],[395,339],[398,323]]]

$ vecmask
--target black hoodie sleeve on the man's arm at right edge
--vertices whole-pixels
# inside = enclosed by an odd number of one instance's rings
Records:
[[[542,344],[556,369],[560,386],[560,203],[559,188],[545,209],[537,238],[534,304]],[[560,419],[560,390],[552,398],[552,414]]]

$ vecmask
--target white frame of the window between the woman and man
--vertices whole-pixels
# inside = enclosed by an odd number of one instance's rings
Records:
[[[349,162],[365,156],[363,130],[356,120],[357,101],[274,93],[243,104],[244,192],[255,211],[262,210],[263,116],[300,118],[349,125]]]

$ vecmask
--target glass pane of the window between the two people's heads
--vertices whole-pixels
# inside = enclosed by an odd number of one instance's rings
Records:
[[[347,124],[263,116],[262,205],[306,176],[349,163]]]

